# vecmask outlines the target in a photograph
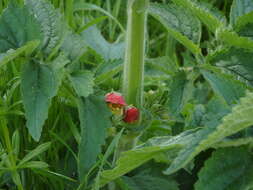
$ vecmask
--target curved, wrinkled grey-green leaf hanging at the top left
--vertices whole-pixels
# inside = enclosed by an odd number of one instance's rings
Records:
[[[27,0],[26,7],[40,24],[44,37],[42,50],[47,54],[51,53],[61,43],[66,32],[66,24],[62,20],[61,14],[46,0]]]

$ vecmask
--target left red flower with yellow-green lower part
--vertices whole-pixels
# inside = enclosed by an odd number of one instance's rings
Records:
[[[114,114],[123,114],[123,107],[126,106],[126,102],[120,93],[111,92],[106,94],[105,101]]]

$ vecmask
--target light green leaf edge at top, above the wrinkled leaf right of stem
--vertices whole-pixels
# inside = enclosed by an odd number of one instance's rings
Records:
[[[209,4],[200,4],[196,0],[173,0],[177,5],[191,11],[192,14],[197,16],[209,30],[215,32],[216,29],[225,25],[225,17],[218,12],[218,10],[210,7]]]

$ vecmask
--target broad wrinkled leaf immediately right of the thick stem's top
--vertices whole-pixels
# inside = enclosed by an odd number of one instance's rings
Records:
[[[188,11],[174,5],[151,3],[148,12],[192,53],[201,53],[197,45],[200,42],[201,25]]]

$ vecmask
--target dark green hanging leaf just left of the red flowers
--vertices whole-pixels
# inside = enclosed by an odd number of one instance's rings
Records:
[[[78,103],[81,122],[79,145],[79,178],[82,180],[96,162],[101,146],[105,142],[106,129],[110,126],[110,112],[100,96],[90,95]]]

